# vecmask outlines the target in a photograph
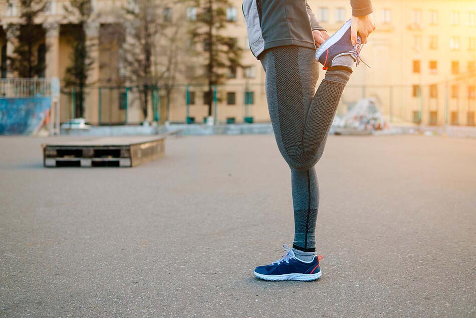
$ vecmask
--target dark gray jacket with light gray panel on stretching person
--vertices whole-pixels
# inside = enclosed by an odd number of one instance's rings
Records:
[[[370,0],[350,0],[352,15],[372,13]],[[306,0],[244,0],[248,41],[253,54],[278,46],[296,45],[315,49],[313,30],[325,30]]]

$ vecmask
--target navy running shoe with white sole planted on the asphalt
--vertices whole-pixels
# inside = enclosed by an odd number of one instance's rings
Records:
[[[270,265],[255,268],[255,276],[264,280],[316,280],[321,277],[317,255],[310,262],[300,260],[288,245],[283,244],[286,253]]]

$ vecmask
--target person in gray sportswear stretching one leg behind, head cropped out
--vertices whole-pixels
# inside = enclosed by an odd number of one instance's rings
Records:
[[[375,29],[370,0],[351,0],[352,15],[332,37],[304,0],[245,0],[250,49],[266,73],[266,97],[278,148],[291,169],[294,243],[255,268],[265,280],[316,280],[319,185],[314,166],[360,48]],[[318,48],[316,52],[316,48]],[[316,91],[318,61],[326,75]]]

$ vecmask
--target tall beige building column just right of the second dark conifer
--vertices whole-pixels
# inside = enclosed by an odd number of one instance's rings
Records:
[[[85,98],[84,117],[92,124],[99,124],[99,22],[85,26],[86,41],[93,64],[88,74],[88,92]]]

